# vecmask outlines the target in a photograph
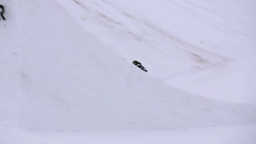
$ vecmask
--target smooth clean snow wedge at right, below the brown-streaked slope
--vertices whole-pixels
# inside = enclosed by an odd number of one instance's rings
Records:
[[[230,67],[176,77],[167,83],[202,96],[232,102],[256,103],[256,57]]]

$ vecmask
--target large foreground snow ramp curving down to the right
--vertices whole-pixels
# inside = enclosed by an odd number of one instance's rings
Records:
[[[0,21],[1,144],[65,143],[90,131],[160,136],[157,130],[256,122],[255,104],[209,99],[141,71],[57,1],[0,2],[7,8],[7,21]]]

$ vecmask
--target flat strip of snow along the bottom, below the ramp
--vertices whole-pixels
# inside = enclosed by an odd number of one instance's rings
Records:
[[[1,144],[255,144],[256,125],[176,131],[27,132],[0,124]]]

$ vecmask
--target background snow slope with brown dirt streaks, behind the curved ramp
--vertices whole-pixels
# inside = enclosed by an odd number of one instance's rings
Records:
[[[206,97],[256,103],[255,0],[58,1],[149,75]]]

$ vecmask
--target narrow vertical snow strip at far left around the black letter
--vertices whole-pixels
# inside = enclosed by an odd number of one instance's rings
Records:
[[[16,123],[19,111],[19,23],[14,0],[0,0],[5,18],[0,21],[0,121]],[[2,18],[1,18],[2,19]]]

